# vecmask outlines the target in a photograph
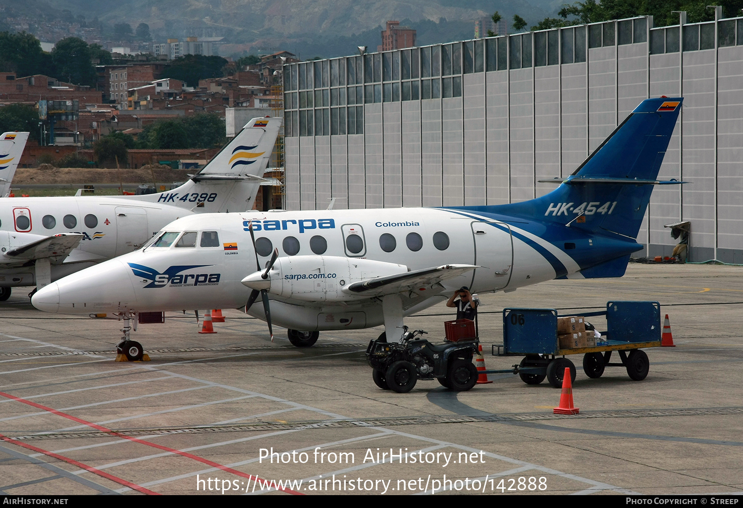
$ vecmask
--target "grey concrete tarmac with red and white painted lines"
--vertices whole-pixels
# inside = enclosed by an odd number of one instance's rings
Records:
[[[676,347],[646,350],[645,380],[590,379],[568,356],[576,416],[513,374],[384,391],[364,357],[382,328],[300,349],[236,310],[212,335],[167,313],[132,335],[152,361],[114,362],[121,322],[42,313],[16,289],[0,304],[0,493],[740,495],[742,282],[741,267],[630,264],[621,279],[481,294],[490,369],[520,361],[490,355],[503,307],[661,302]],[[443,339],[449,309],[422,314],[406,324]]]

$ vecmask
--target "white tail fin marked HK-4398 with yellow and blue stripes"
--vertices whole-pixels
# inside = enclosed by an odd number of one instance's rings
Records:
[[[253,118],[201,171],[167,192],[137,196],[194,212],[244,212],[253,208],[268,166],[281,117]],[[133,198],[133,197],[132,197]]]

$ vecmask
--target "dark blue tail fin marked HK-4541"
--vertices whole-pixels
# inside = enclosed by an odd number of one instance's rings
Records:
[[[643,100],[557,189],[498,212],[637,238],[653,186],[681,183],[656,178],[682,102]]]

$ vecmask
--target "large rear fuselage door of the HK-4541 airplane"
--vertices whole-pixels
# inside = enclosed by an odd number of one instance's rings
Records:
[[[473,222],[475,270],[471,284],[473,293],[499,290],[508,285],[513,272],[513,239],[510,227],[502,222]]]

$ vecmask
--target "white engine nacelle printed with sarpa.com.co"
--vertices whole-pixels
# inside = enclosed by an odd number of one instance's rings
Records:
[[[343,287],[358,281],[405,273],[404,264],[371,261],[370,259],[341,258],[333,255],[293,255],[276,259],[268,279],[256,272],[242,283],[254,289],[304,302],[348,302],[349,299],[367,299],[368,296],[343,293]],[[270,283],[270,287],[266,287]]]

